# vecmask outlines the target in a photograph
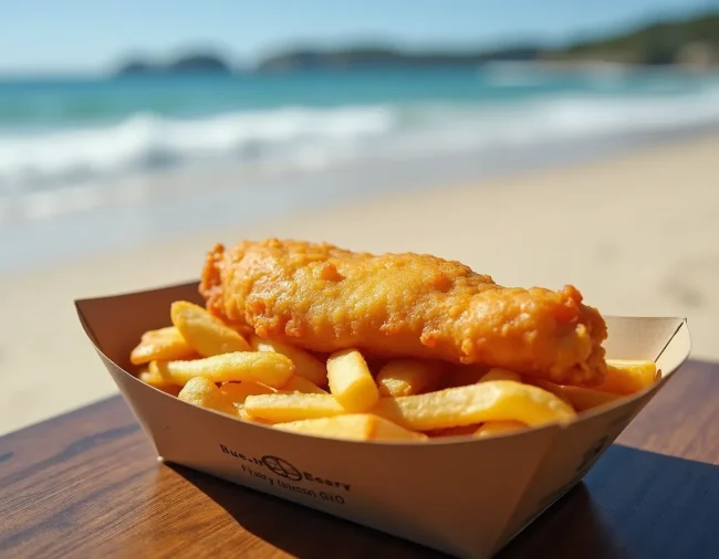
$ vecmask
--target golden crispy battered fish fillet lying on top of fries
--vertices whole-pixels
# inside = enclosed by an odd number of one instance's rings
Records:
[[[313,351],[480,363],[564,384],[598,383],[606,370],[606,324],[575,287],[502,287],[424,254],[277,239],[218,244],[200,294],[211,314]]]

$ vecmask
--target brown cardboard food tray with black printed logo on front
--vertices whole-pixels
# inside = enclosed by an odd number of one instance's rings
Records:
[[[421,444],[338,441],[198,408],[131,375],[132,348],[169,324],[177,299],[201,304],[197,283],[75,302],[160,460],[467,558],[496,553],[572,488],[690,349],[686,319],[605,317],[608,357],[657,361],[663,377],[650,389],[566,426]]]

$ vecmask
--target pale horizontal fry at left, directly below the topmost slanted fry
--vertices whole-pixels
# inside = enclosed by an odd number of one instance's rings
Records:
[[[294,366],[280,354],[237,351],[194,361],[157,361],[157,370],[167,383],[174,384],[185,384],[195,377],[207,377],[212,382],[249,380],[282,388],[294,373]]]

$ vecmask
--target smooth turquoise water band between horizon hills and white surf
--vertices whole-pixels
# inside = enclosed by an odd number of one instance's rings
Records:
[[[556,95],[667,97],[719,85],[686,73],[384,70],[346,73],[147,76],[100,80],[0,80],[0,126],[82,126],[136,114],[197,118],[286,106],[517,103]]]

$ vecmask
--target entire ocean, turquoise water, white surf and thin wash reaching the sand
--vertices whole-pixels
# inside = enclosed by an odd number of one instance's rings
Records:
[[[244,194],[256,197],[250,207],[265,205],[262,196],[300,207],[717,126],[719,74],[679,70],[493,64],[0,78],[0,231],[28,239],[20,249],[0,243],[0,271],[55,234],[38,221],[113,209],[137,220],[153,197],[181,192],[195,196],[192,207],[217,188],[217,205],[232,207],[241,189],[253,192]],[[212,220],[222,217],[217,205]],[[228,211],[227,223],[237,219]],[[86,226],[69,223],[63,234],[79,229],[73,242],[86,244]]]

